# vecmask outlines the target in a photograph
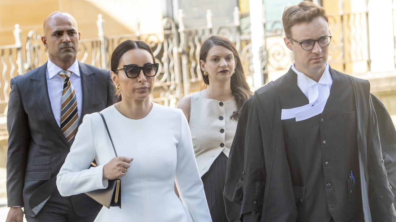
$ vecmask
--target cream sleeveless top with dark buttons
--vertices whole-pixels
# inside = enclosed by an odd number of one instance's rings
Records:
[[[235,100],[221,102],[190,95],[190,131],[200,176],[208,172],[217,156],[230,153],[238,121],[230,117],[236,111]]]

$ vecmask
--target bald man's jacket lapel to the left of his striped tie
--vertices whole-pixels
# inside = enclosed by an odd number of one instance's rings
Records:
[[[51,102],[48,96],[47,78],[46,78],[47,63],[38,68],[34,78],[30,79],[34,96],[36,97],[37,103],[40,106],[44,117],[47,119],[49,125],[52,126],[53,130],[62,138],[62,140],[69,145],[65,135],[61,128],[58,126],[55,117],[53,116]]]

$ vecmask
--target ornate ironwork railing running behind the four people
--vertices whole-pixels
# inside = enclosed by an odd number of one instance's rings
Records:
[[[334,36],[329,46],[329,62],[332,65],[338,65],[337,68],[344,72],[348,72],[348,69],[356,63],[366,64],[365,71],[370,71],[368,11],[343,13],[343,1],[339,0],[339,2],[341,2],[339,14],[329,15],[329,28]],[[98,37],[81,40],[78,60],[109,69],[111,53],[119,43],[128,39],[143,40],[150,45],[156,62],[160,64],[160,73],[156,77],[152,100],[175,106],[181,96],[197,90],[196,87],[202,81],[199,65],[202,43],[211,35],[221,35],[236,45],[248,82],[252,83],[254,70],[250,21],[240,19],[238,8],[235,8],[232,24],[213,27],[210,10],[207,12],[206,19],[206,26],[186,28],[183,11],[179,10],[178,27],[172,19],[164,18],[162,20],[163,31],[160,33],[143,35],[137,30],[134,34],[106,36],[103,32],[105,21],[101,15],[98,15]],[[265,77],[268,72],[287,69],[293,62],[293,54],[284,45],[281,21],[268,23],[262,21],[262,23],[263,46],[259,57],[261,74]],[[271,24],[271,27],[266,27],[267,24]],[[48,58],[48,53],[37,31],[29,32],[24,47],[21,43],[21,30],[17,25],[15,25],[14,36],[15,45],[0,46],[0,113],[6,111],[10,79],[17,74],[41,66]],[[396,34],[394,36],[396,42]]]

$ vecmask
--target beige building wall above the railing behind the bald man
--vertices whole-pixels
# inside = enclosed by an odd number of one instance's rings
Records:
[[[105,35],[162,31],[161,0],[0,0],[0,45],[15,43],[14,25],[22,29],[22,43],[30,30],[43,34],[44,19],[54,11],[70,13],[78,23],[81,38],[97,38],[98,14],[105,19]]]

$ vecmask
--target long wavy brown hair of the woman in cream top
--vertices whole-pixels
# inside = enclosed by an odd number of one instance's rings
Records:
[[[220,45],[228,50],[230,50],[234,54],[234,58],[236,58],[236,68],[235,73],[231,76],[231,92],[232,96],[236,101],[236,111],[232,113],[230,117],[233,120],[239,119],[239,111],[242,108],[242,105],[249,99],[253,93],[250,91],[250,87],[246,82],[246,76],[244,72],[244,68],[242,67],[242,62],[239,56],[238,51],[236,51],[235,45],[225,37],[222,36],[211,36],[209,37],[204,44],[202,44],[201,51],[199,54],[199,60],[206,62],[206,57],[208,56],[208,51],[215,45]],[[202,79],[204,83],[209,85],[209,77],[204,75],[204,71],[201,70]]]

